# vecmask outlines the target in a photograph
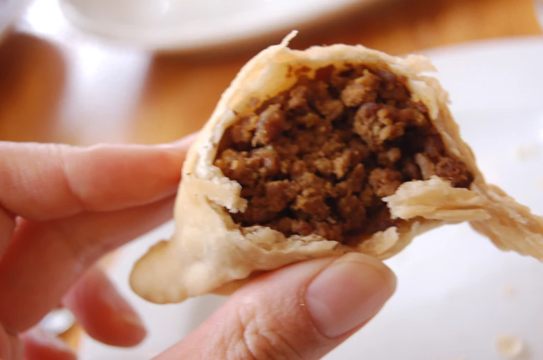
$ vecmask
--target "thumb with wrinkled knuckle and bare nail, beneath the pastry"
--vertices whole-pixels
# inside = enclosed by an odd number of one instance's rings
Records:
[[[394,274],[362,254],[291,265],[242,287],[156,360],[320,359],[367,323],[395,288]]]

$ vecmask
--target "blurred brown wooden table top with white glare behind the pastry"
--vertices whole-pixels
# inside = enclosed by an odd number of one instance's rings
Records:
[[[392,54],[539,35],[531,0],[383,0],[304,26],[294,48],[364,44]],[[0,42],[0,140],[153,144],[196,131],[239,68],[285,32],[202,54],[153,54],[70,26],[35,0]],[[77,345],[80,330],[62,337]]]

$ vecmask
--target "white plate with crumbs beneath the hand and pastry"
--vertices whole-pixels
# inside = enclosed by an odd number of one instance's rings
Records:
[[[430,54],[489,181],[543,214],[543,39],[492,41]],[[171,225],[127,246],[111,276],[143,314],[151,336],[116,350],[85,339],[83,360],[149,359],[201,323],[223,300],[145,303],[127,285],[131,264]],[[497,250],[467,225],[425,234],[387,261],[398,292],[374,321],[325,359],[499,360],[511,334],[543,359],[543,264]]]

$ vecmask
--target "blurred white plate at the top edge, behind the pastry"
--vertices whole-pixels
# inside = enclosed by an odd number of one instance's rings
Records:
[[[374,0],[62,0],[75,25],[154,50],[256,39]]]

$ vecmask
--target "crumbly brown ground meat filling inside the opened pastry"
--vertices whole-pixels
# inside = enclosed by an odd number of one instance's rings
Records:
[[[306,70],[290,90],[237,115],[219,146],[214,164],[248,200],[232,214],[239,225],[349,243],[398,223],[381,198],[403,182],[439,176],[470,185],[425,106],[410,100],[405,77],[349,64],[312,78]]]

